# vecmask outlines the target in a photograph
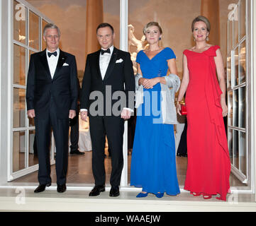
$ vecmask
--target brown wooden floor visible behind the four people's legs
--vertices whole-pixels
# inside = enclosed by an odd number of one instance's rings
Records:
[[[128,155],[128,184],[130,184],[130,160],[131,155]],[[179,186],[184,186],[187,172],[187,157],[176,157],[176,162]],[[109,156],[105,159],[105,169],[106,185],[108,185],[111,175],[111,157]],[[55,165],[51,167],[51,177],[52,183],[56,183]],[[38,183],[38,172],[30,173],[13,182]],[[91,172],[91,151],[85,152],[84,155],[69,155],[67,184],[94,184],[94,177]],[[233,174],[230,174],[230,186],[245,186],[245,184],[236,179]]]

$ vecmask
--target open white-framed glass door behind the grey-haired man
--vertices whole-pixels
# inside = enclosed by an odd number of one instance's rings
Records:
[[[30,54],[41,50],[42,24],[48,22],[43,15],[35,13],[26,1],[13,3],[13,74],[11,77],[11,111],[12,111],[12,154],[10,162],[11,177],[18,177],[37,169],[38,158],[35,145],[35,121],[26,114],[26,79]],[[23,11],[21,18],[19,11]],[[49,21],[49,23],[52,23]],[[54,155],[51,157],[54,163]],[[22,170],[22,171],[21,171]],[[32,171],[31,171],[32,170]]]

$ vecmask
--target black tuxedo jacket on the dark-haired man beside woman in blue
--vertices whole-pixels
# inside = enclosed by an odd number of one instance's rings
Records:
[[[90,94],[93,91],[99,91],[104,96],[104,115],[106,114],[106,87],[111,88],[111,95],[116,91],[122,91],[126,94],[124,107],[133,109],[134,97],[129,96],[129,91],[135,92],[135,78],[133,72],[133,63],[130,60],[130,53],[121,51],[120,49],[113,48],[111,60],[109,61],[108,68],[104,79],[102,80],[101,70],[99,68],[99,55],[101,50],[87,55],[87,63],[84,70],[84,78],[82,81],[82,92],[80,100],[80,108],[87,109],[89,116],[91,103],[95,100],[90,100]],[[120,98],[112,100],[111,106],[115,104]],[[130,105],[132,104],[132,105]],[[121,109],[122,110],[122,109]],[[111,112],[111,115],[112,112]]]

